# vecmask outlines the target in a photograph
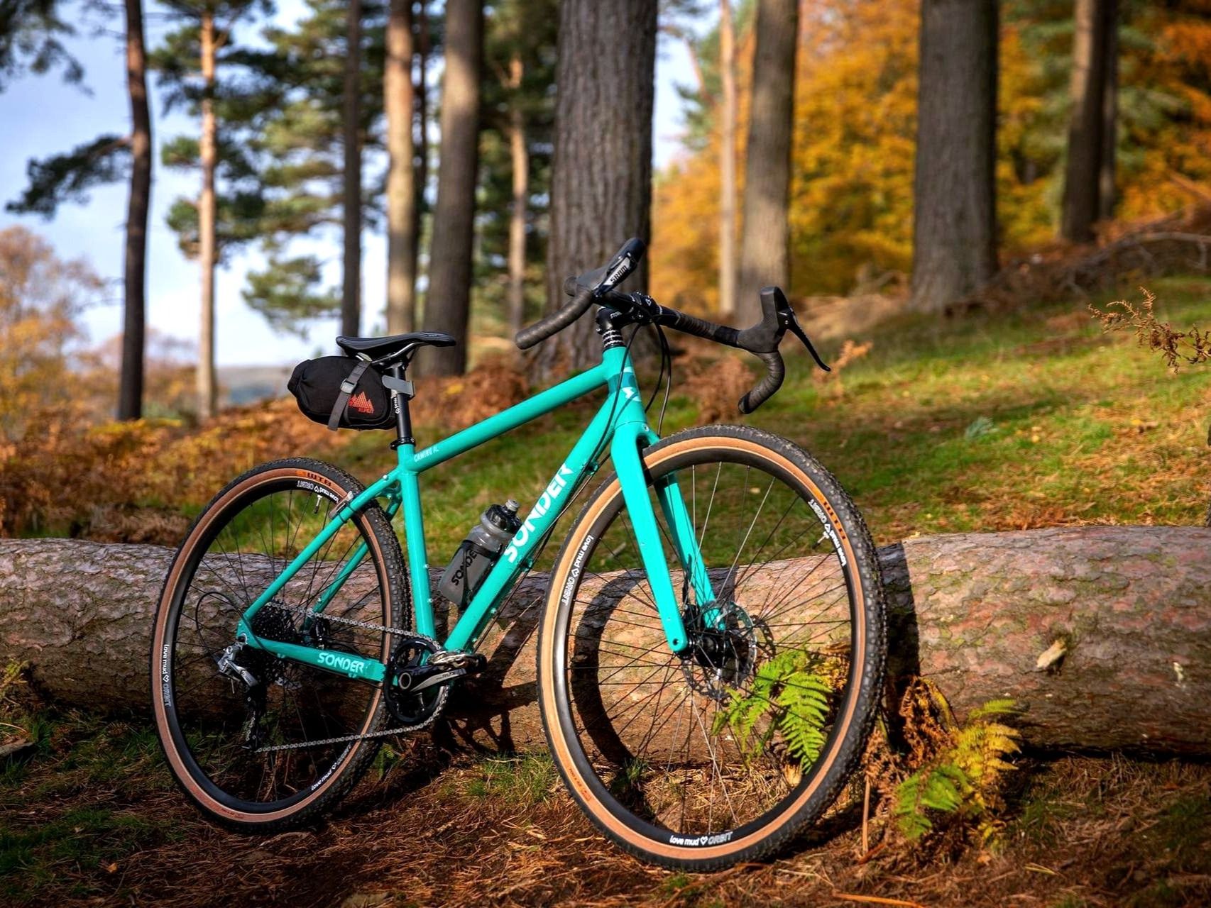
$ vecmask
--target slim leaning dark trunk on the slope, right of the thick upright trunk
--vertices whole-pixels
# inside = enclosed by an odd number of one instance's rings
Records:
[[[1107,0],[1077,0],[1073,12],[1072,117],[1060,235],[1091,242],[1097,220],[1106,92]]]

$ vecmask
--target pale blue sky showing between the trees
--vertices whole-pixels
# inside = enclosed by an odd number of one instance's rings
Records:
[[[298,0],[279,4],[276,18],[289,22],[300,13]],[[125,133],[130,114],[126,105],[124,51],[116,21],[105,23],[110,31],[91,35],[81,25],[81,36],[71,40],[71,51],[84,63],[91,93],[65,85],[57,74],[28,76],[10,84],[0,93],[0,201],[16,197],[25,185],[25,162],[67,151],[103,132]],[[165,25],[149,16],[148,41],[154,45]],[[689,82],[691,73],[684,48],[661,41],[656,64],[655,160],[664,163],[677,150],[681,130],[681,104],[675,86]],[[151,190],[148,258],[148,321],[153,329],[178,338],[195,338],[199,317],[197,266],[182,255],[176,235],[165,223],[165,213],[177,196],[196,194],[196,177],[159,166],[159,146],[172,136],[196,134],[196,125],[184,114],[165,117],[154,77],[150,80],[155,127],[155,178]],[[102,186],[90,194],[87,203],[59,207],[53,220],[38,215],[16,215],[2,211],[0,229],[22,224],[45,236],[63,258],[84,258],[103,277],[121,275],[122,225],[126,214],[126,186]],[[362,239],[362,329],[373,331],[381,323],[380,311],[385,286],[385,240],[367,231]],[[333,283],[340,277],[339,236],[321,237],[312,249],[327,264]],[[331,344],[337,321],[318,321],[306,340],[279,334],[251,311],[240,295],[243,275],[262,264],[256,251],[234,258],[218,272],[217,345],[219,366],[287,363],[310,356]],[[121,329],[120,286],[111,300],[85,314],[91,343],[101,343]]]

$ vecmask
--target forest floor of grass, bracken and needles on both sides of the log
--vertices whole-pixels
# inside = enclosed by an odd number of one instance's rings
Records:
[[[1211,280],[1149,288],[1175,326],[1211,322]],[[854,334],[842,323],[822,344],[826,358],[844,358],[845,340],[854,341],[849,362],[827,377],[807,356],[790,356],[786,386],[748,421],[832,467],[880,544],[918,533],[1203,521],[1207,367],[1167,370],[1132,338],[1103,334],[1085,300],[953,321],[894,316]],[[734,402],[754,378],[740,361],[689,349],[665,433],[739,421]],[[420,383],[421,443],[436,439],[438,423],[478,415],[476,402],[489,406],[500,385],[490,373]],[[545,416],[426,475],[434,563],[484,506],[545,485],[592,406]],[[116,484],[114,461],[98,459],[98,483],[79,484],[91,492],[75,502],[64,496],[76,485],[57,484],[58,510],[18,531],[174,544],[182,521],[222,484],[214,477],[256,460],[310,450],[363,478],[391,460],[381,433],[335,438],[308,429],[293,403],[203,431],[139,431],[161,435],[153,453],[131,449],[142,472],[130,476],[177,470],[162,487],[176,498],[148,493],[134,496],[138,507],[107,511],[98,495],[132,498]],[[79,470],[80,452],[69,450]],[[48,472],[45,452],[38,456],[41,473],[29,476]],[[191,472],[182,479],[182,470]],[[24,482],[6,493],[0,481],[8,519],[36,500]],[[1027,757],[987,847],[889,846],[863,863],[860,811],[848,811],[848,822],[816,831],[782,860],[694,875],[647,867],[606,843],[540,757],[452,763],[418,743],[404,759],[381,760],[322,827],[248,839],[205,824],[184,803],[142,722],[13,702],[4,709],[0,722],[38,743],[0,762],[0,904],[1211,904],[1205,764]]]

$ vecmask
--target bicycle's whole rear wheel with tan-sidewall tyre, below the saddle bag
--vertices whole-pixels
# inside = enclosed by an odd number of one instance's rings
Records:
[[[199,516],[165,581],[151,646],[156,732],[184,792],[230,828],[276,832],[305,822],[344,795],[378,749],[378,740],[360,736],[384,718],[381,685],[235,639],[245,609],[360,492],[357,479],[318,460],[258,466]],[[321,616],[311,617],[354,562]],[[252,630],[386,661],[394,634],[378,628],[402,627],[408,607],[398,541],[372,505],[257,613]]]

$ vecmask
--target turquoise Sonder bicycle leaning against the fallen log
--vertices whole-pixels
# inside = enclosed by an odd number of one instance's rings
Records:
[[[869,533],[832,475],[785,438],[722,425],[660,438],[630,340],[655,326],[661,340],[672,328],[757,355],[767,375],[745,413],[779,389],[786,332],[815,351],[777,288],[762,291],[763,320],[744,331],[616,291],[642,254],[632,240],[569,280],[572,301],[517,335],[534,346],[596,304],[601,364],[420,449],[406,372],[417,350],[453,338],[338,338],[348,356],[299,367],[305,413],[394,427],[397,464],[369,487],[311,459],[258,466],[216,495],[177,552],[151,699],[168,765],[206,816],[262,833],[312,821],[384,737],[432,725],[450,686],[483,669],[476,646],[493,616],[607,459],[613,472],[555,557],[539,628],[538,699],[572,797],[622,847],[694,870],[769,855],[830,809],[880,697]],[[528,516],[495,505],[459,547],[438,587],[459,617],[438,642],[420,475],[602,390]],[[400,511],[407,561],[391,528]]]

